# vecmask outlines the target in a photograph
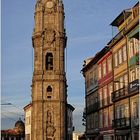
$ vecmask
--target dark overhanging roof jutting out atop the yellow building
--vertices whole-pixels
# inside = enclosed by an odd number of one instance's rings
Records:
[[[125,9],[123,10],[119,16],[117,16],[110,25],[112,26],[120,26],[130,15],[132,14],[131,9]]]

